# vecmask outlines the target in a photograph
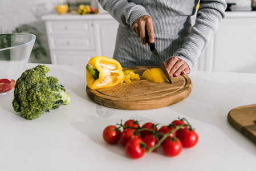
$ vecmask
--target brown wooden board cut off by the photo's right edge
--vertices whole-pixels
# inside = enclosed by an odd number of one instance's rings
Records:
[[[235,129],[256,143],[256,104],[231,109],[227,119]]]

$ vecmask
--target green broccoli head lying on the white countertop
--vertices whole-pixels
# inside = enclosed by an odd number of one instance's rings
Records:
[[[14,88],[13,108],[28,120],[33,120],[50,109],[70,103],[70,95],[59,80],[47,75],[45,65],[26,70],[17,79]]]

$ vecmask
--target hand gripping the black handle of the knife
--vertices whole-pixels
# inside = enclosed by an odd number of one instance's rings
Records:
[[[143,44],[147,44],[145,38],[145,28],[148,30],[149,41],[151,43],[155,42],[154,39],[154,30],[153,30],[153,21],[148,15],[143,15],[136,19],[132,24],[132,30],[141,38]]]

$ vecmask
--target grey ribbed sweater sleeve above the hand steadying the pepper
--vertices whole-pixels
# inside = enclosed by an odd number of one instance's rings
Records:
[[[200,1],[195,24],[192,26],[184,46],[173,54],[173,56],[184,60],[190,70],[220,26],[222,19],[225,17],[225,9],[225,0]]]

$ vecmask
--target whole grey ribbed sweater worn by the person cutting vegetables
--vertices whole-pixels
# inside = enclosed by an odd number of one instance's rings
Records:
[[[113,58],[123,67],[158,66],[149,46],[132,31],[132,23],[142,15],[149,15],[154,23],[156,49],[162,60],[177,56],[190,70],[202,50],[217,31],[225,17],[225,0],[201,0],[196,23],[198,0],[98,0],[120,23]],[[111,57],[111,56],[108,56]]]

